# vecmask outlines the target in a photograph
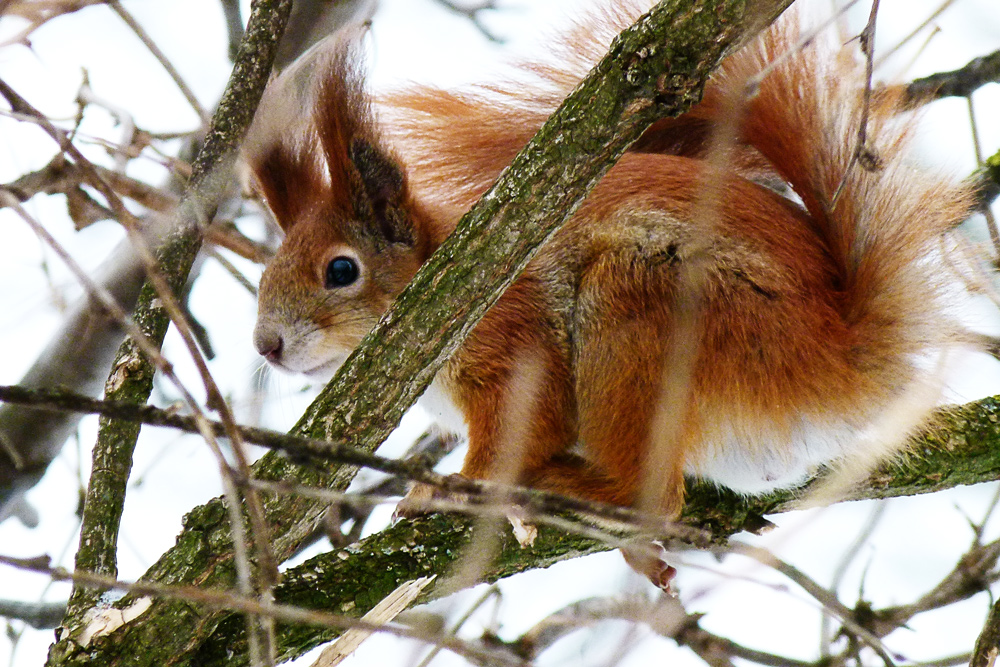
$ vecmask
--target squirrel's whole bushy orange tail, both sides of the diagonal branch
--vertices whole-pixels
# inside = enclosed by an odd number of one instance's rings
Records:
[[[464,212],[649,4],[622,0],[592,10],[553,40],[551,59],[520,63],[507,82],[384,97],[389,138],[419,165],[410,170],[415,189]],[[858,363],[877,366],[947,344],[956,330],[942,316],[954,281],[926,260],[967,217],[971,192],[912,168],[913,122],[902,91],[876,87],[866,103],[856,41],[835,43],[831,29],[803,39],[802,24],[797,12],[786,12],[723,62],[700,104],[654,124],[631,150],[705,157],[720,127],[736,123],[729,166],[801,200],[840,272],[841,312],[858,336]],[[867,140],[859,148],[862,123]],[[898,371],[886,368],[884,379]]]

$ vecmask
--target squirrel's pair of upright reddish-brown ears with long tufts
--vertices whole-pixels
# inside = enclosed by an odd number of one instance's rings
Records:
[[[286,230],[319,205],[357,218],[376,245],[413,246],[406,173],[380,142],[364,87],[362,34],[337,32],[272,82],[244,154]]]

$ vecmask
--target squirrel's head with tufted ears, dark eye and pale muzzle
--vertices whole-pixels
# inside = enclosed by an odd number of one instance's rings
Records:
[[[285,232],[261,278],[254,346],[294,372],[332,375],[427,255],[363,88],[358,35],[328,38],[272,83],[244,145]]]

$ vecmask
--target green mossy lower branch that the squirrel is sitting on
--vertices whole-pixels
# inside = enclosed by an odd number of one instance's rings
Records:
[[[1000,479],[1000,398],[987,398],[939,415],[940,428],[915,440],[898,460],[875,471],[849,494],[850,499],[890,498],[930,493],[955,486]],[[683,521],[706,529],[722,544],[743,531],[757,532],[767,524],[765,514],[794,509],[800,498],[822,478],[796,491],[746,498],[708,484],[689,484]],[[275,589],[276,601],[360,617],[403,582],[447,573],[470,543],[474,521],[468,517],[433,515],[403,521],[372,535],[349,549],[336,549],[285,572]],[[538,540],[522,549],[505,530],[497,560],[482,575],[496,581],[530,569],[548,567],[569,558],[606,551],[611,542],[541,525]],[[440,578],[439,582],[442,581]],[[436,584],[420,601],[447,594]],[[311,626],[283,626],[279,655],[291,659],[333,639],[337,630]],[[246,664],[244,626],[237,614],[222,621],[199,650],[196,662],[204,667]]]

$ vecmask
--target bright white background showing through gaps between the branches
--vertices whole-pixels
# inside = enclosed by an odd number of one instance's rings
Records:
[[[183,78],[205,105],[211,105],[225,84],[225,28],[216,2],[205,0],[131,0],[123,3],[168,54]],[[383,0],[372,31],[373,82],[376,87],[393,81],[417,79],[452,84],[485,78],[496,69],[506,51],[523,52],[538,47],[537,31],[557,22],[572,9],[572,0],[511,0],[503,11],[487,12],[484,19],[505,45],[486,42],[466,20],[430,0]],[[937,0],[886,0],[879,19],[879,43],[894,44],[922,22]],[[244,8],[246,13],[247,9]],[[867,7],[852,16],[863,20]],[[890,64],[888,72],[913,78],[964,65],[969,59],[1000,48],[1000,4],[996,0],[958,0],[935,25],[941,33],[915,62],[913,49]],[[0,19],[0,41],[23,24]],[[925,41],[922,34],[915,45]],[[70,122],[76,112],[74,97],[85,69],[96,94],[128,109],[136,124],[153,132],[187,131],[197,118],[176,87],[132,32],[106,7],[95,6],[56,19],[35,32],[31,49],[0,49],[0,77],[51,117]],[[975,95],[976,112],[984,150],[1000,148],[1000,86],[987,86]],[[973,168],[973,149],[963,100],[934,105],[927,113],[922,135],[924,159],[929,164],[966,174]],[[65,126],[65,124],[64,124]],[[107,113],[93,109],[81,128],[84,135],[116,140],[120,129]],[[43,166],[55,146],[29,124],[0,117],[0,182]],[[95,160],[107,163],[98,148],[89,150]],[[166,171],[155,160],[137,160],[130,173],[153,183]],[[78,261],[98,266],[121,236],[117,226],[99,223],[77,233],[65,215],[61,197],[36,197],[29,210],[60,239]],[[246,231],[259,234],[253,221]],[[52,253],[9,211],[0,211],[0,383],[14,384],[47,342],[61,318],[65,304],[80,293]],[[252,279],[259,270],[234,260]],[[239,414],[249,414],[252,398],[261,383],[268,385],[263,421],[274,428],[290,426],[317,389],[296,378],[262,379],[250,342],[255,304],[214,262],[207,262],[194,291],[192,310],[212,336],[218,357],[211,367],[223,390],[232,396]],[[987,308],[974,317],[983,327],[992,325]],[[199,382],[187,367],[177,341],[168,336],[168,356],[179,366],[189,386]],[[955,396],[971,399],[996,391],[996,364],[985,357],[962,360],[954,369]],[[426,419],[411,414],[396,446],[405,444]],[[29,495],[39,510],[41,523],[27,529],[16,521],[0,525],[0,553],[11,556],[51,555],[72,566],[78,523],[75,516],[81,484],[89,474],[96,419],[85,419],[76,441],[52,465],[44,481]],[[453,462],[454,463],[454,462]],[[457,465],[457,464],[455,464]],[[219,493],[215,464],[195,438],[147,429],[136,454],[133,480],[123,517],[119,567],[122,578],[138,577],[173,543],[184,512]],[[864,594],[876,606],[908,602],[932,586],[953,566],[972,539],[969,521],[979,521],[995,488],[984,485],[956,489],[931,497],[892,501],[880,529],[866,543],[842,587],[845,601],[853,603],[864,576]],[[782,557],[796,563],[821,583],[830,580],[841,550],[873,511],[872,503],[854,503],[812,512],[775,517],[781,530],[765,542]],[[380,513],[384,520],[388,513]],[[996,526],[987,536],[997,533]],[[772,649],[789,657],[813,659],[818,646],[817,605],[779,577],[761,568],[729,560],[720,565],[701,556],[687,558],[678,579],[681,598],[689,611],[704,611],[704,627],[753,647]],[[644,591],[615,553],[563,563],[549,570],[530,572],[501,584],[499,611],[502,636],[524,631],[545,614],[573,600],[590,596]],[[453,615],[479,596],[470,591],[438,605]],[[0,568],[0,597],[33,601],[62,600],[65,585],[50,585],[40,576]],[[925,614],[909,629],[890,636],[887,645],[909,660],[927,660],[970,650],[988,608],[985,595],[946,611]],[[469,626],[474,633],[488,623],[487,608]],[[20,632],[19,623],[10,630]],[[627,637],[623,625],[609,624],[601,632],[586,631],[564,640],[540,661],[545,665],[608,664],[621,657],[622,665],[701,664],[686,650],[639,631]],[[26,631],[16,644],[11,636],[0,638],[0,665],[40,665],[50,631]],[[626,641],[628,639],[628,641]],[[628,646],[623,650],[623,646]],[[675,655],[676,654],[676,655]],[[352,657],[351,665],[412,664],[417,654],[412,644],[376,638]],[[302,664],[309,664],[305,660]],[[463,664],[442,654],[436,665]]]

